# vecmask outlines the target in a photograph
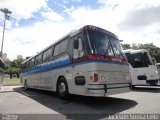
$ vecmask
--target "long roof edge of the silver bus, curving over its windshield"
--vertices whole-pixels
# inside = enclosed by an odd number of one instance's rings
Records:
[[[104,32],[106,34],[109,34],[110,36],[113,36],[115,38],[118,39],[118,37],[113,34],[112,32],[110,31],[107,31],[105,29],[102,29],[100,27],[96,27],[96,26],[93,26],[93,25],[85,25],[83,26],[82,28],[78,29],[78,30],[72,30],[71,32],[69,32],[67,35],[63,36],[62,38],[60,38],[59,40],[53,42],[51,45],[49,45],[48,47],[46,47],[45,49],[43,49],[42,51],[38,52],[37,54],[35,54],[34,56],[28,58],[27,60],[25,60],[22,64],[26,63],[27,61],[31,60],[32,58],[38,56],[40,53],[44,52],[45,50],[47,50],[48,48],[52,47],[54,44],[60,42],[61,40],[63,40],[64,38],[67,38],[67,37],[73,37],[75,36],[76,34],[80,33],[81,31],[85,31],[85,30],[95,30],[95,31],[100,31],[100,32]]]

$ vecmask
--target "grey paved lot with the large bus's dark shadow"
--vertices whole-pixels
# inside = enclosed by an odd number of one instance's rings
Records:
[[[106,119],[115,114],[160,114],[160,87],[138,87],[132,92],[106,98],[72,95],[68,100],[61,100],[53,92],[24,91],[21,86],[4,86],[0,89],[0,113],[43,114],[40,118],[50,116],[49,120],[77,120],[79,114],[83,114],[84,118],[86,114],[93,115],[93,120]],[[24,118],[29,119],[27,117],[31,115]]]

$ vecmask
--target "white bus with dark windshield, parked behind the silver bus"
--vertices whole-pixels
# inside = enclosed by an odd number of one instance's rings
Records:
[[[157,85],[159,74],[149,52],[145,49],[124,50],[130,63],[132,87],[135,85]]]

